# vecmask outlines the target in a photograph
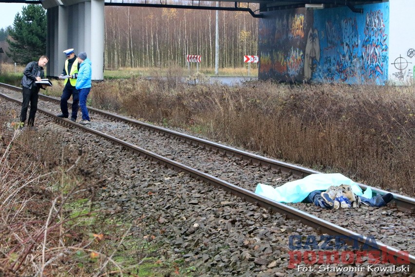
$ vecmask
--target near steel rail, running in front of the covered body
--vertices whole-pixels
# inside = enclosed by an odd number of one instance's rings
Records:
[[[21,101],[18,99],[14,99],[11,97],[8,97],[4,94],[0,94],[0,97],[4,99],[8,99],[10,101],[14,101],[21,104]],[[169,158],[165,158],[163,156],[160,156],[154,152],[145,150],[144,148],[141,148],[139,146],[136,146],[132,143],[129,143],[127,141],[124,141],[122,139],[117,139],[111,135],[102,133],[100,131],[88,128],[84,125],[81,125],[77,122],[73,122],[67,119],[58,118],[54,114],[43,110],[41,108],[38,108],[38,111],[52,117],[55,122],[63,125],[63,126],[76,126],[83,131],[89,132],[91,134],[94,134],[96,136],[105,138],[109,141],[111,141],[114,144],[118,144],[125,149],[132,151],[137,156],[142,156],[143,158],[149,159],[151,161],[157,162],[157,164],[165,166],[166,168],[170,168],[172,170],[178,171],[178,172],[184,172],[188,174],[189,176],[192,176],[193,178],[197,180],[204,181],[208,185],[212,185],[218,188],[222,188],[231,194],[243,198],[245,201],[249,201],[251,203],[255,203],[256,205],[260,207],[266,208],[269,212],[276,212],[285,215],[287,218],[294,219],[294,220],[300,220],[303,224],[311,226],[316,228],[320,233],[322,234],[329,234],[329,235],[341,235],[346,236],[349,238],[349,240],[346,240],[345,242],[349,245],[356,246],[356,242],[358,242],[359,245],[365,245],[366,247],[370,248],[371,250],[376,250],[381,253],[381,257],[384,257],[385,255],[387,257],[393,256],[394,260],[401,260],[404,259],[405,262],[408,262],[407,265],[410,266],[411,272],[415,273],[415,256],[410,255],[409,253],[406,253],[401,250],[397,250],[393,247],[390,247],[386,244],[383,244],[381,242],[375,241],[373,238],[366,237],[363,235],[360,235],[356,232],[352,232],[350,230],[347,230],[343,227],[340,227],[339,225],[333,224],[329,221],[323,220],[321,218],[317,218],[315,216],[312,216],[310,214],[307,214],[305,212],[302,212],[301,210],[295,209],[293,207],[290,207],[288,205],[285,205],[280,202],[273,201],[269,198],[265,198],[262,196],[259,196],[251,191],[248,191],[244,188],[238,187],[237,185],[234,185],[232,183],[229,183],[225,180],[222,180],[220,178],[216,178],[212,175],[209,175],[207,173],[201,172],[197,169],[191,168],[189,166],[186,166],[182,163],[179,163],[177,161],[171,160]],[[390,261],[390,258],[388,259]]]

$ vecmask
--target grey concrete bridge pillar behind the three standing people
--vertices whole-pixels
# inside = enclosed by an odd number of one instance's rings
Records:
[[[86,52],[92,79],[104,79],[104,0],[44,0],[47,9],[47,75],[57,77],[65,62],[63,50]]]

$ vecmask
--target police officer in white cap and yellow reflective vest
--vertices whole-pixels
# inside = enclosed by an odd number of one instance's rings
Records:
[[[59,76],[60,79],[65,79],[63,82],[63,92],[60,97],[60,110],[61,114],[57,115],[58,118],[69,117],[68,112],[68,99],[72,96],[72,116],[71,120],[76,121],[78,113],[79,93],[75,88],[76,78],[78,76],[79,63],[76,59],[76,55],[73,48],[63,51],[66,56],[65,65],[63,66],[63,72]]]

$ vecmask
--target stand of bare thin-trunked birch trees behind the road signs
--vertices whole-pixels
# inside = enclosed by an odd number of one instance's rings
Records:
[[[185,66],[186,55],[201,55],[203,66],[214,67],[212,30],[221,45],[218,67],[242,67],[243,55],[258,50],[258,19],[246,12],[221,11],[217,31],[205,10],[105,7],[105,14],[106,68]]]

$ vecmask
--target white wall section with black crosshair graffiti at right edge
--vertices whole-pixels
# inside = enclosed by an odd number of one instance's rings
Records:
[[[414,0],[390,2],[389,79],[396,84],[414,82]]]

